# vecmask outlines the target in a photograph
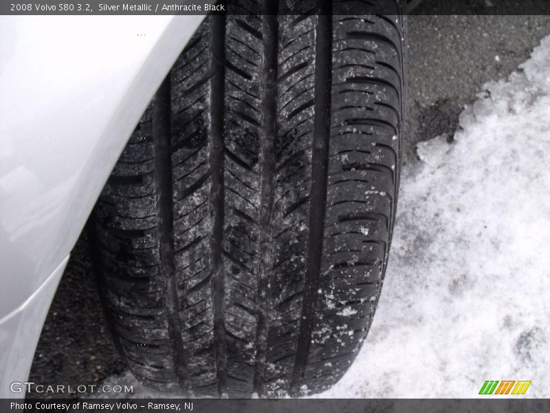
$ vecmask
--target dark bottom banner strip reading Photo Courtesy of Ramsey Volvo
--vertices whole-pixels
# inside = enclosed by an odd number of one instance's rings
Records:
[[[549,412],[550,399],[0,399],[0,412]]]

